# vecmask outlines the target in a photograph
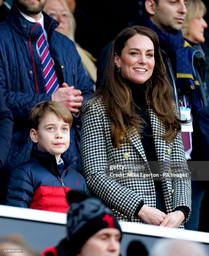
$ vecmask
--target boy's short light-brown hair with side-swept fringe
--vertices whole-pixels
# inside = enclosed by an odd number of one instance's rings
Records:
[[[70,127],[72,126],[73,117],[66,106],[57,101],[41,101],[30,111],[28,118],[30,129],[37,130],[40,119],[51,112],[62,118]]]

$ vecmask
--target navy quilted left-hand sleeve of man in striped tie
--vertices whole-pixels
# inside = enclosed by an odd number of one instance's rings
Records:
[[[36,93],[24,93],[24,92],[14,92],[7,90],[5,84],[5,73],[0,60],[0,86],[4,91],[4,98],[6,105],[12,112],[14,119],[28,119],[28,114],[31,108],[35,106],[36,103],[45,100],[51,100],[51,95],[47,94],[36,94]]]

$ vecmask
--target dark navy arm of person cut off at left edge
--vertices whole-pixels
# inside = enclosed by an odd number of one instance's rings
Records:
[[[6,106],[3,91],[0,88],[0,170],[6,161],[12,138],[13,118]]]

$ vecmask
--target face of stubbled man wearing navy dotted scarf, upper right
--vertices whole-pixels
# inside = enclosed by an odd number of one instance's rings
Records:
[[[152,0],[153,1],[153,0]],[[152,22],[167,33],[181,30],[186,16],[186,0],[159,0],[153,4]]]

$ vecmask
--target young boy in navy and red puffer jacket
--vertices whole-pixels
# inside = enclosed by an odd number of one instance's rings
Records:
[[[30,160],[11,173],[5,205],[66,213],[69,190],[87,193],[85,179],[76,171],[77,157],[61,156],[69,147],[72,120],[70,111],[55,101],[39,102],[31,110],[34,146]]]

